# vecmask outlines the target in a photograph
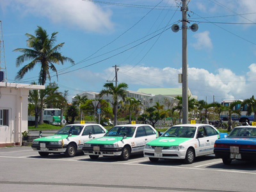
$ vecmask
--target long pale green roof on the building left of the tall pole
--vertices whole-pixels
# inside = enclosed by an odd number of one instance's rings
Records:
[[[182,95],[182,88],[140,88],[137,92],[154,95]]]

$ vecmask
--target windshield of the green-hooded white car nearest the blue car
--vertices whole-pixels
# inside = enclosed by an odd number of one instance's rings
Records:
[[[196,127],[182,127],[174,126],[170,127],[161,137],[172,138],[193,138],[195,136]]]

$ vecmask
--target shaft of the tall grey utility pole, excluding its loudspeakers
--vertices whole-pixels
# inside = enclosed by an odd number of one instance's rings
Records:
[[[182,124],[188,124],[187,0],[182,0]]]

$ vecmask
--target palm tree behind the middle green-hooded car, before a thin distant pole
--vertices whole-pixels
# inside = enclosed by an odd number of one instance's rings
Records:
[[[111,102],[113,106],[113,114],[114,114],[114,125],[116,125],[117,120],[117,106],[118,106],[118,97],[122,97],[125,100],[126,90],[128,85],[126,83],[120,83],[118,86],[114,86],[113,83],[105,83],[103,86],[105,89],[101,90],[99,96],[103,95],[112,95],[113,101]]]

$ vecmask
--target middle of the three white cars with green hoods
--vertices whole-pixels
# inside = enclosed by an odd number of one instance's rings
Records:
[[[156,139],[158,133],[151,125],[116,125],[102,138],[86,141],[83,152],[91,159],[99,156],[119,156],[128,160],[131,154],[143,152],[148,141]]]

